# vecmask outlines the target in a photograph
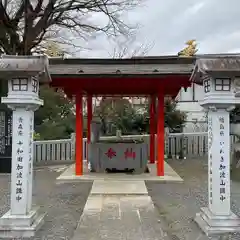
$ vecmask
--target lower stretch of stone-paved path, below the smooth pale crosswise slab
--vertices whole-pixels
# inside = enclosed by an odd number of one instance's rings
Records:
[[[72,240],[170,240],[149,196],[90,196],[88,201],[92,207],[84,210]]]

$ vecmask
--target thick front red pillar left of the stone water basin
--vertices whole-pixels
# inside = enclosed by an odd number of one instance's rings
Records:
[[[76,95],[76,162],[75,174],[80,176],[83,174],[83,109],[82,94]]]

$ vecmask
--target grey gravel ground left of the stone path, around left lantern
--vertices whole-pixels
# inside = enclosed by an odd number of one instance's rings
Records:
[[[47,212],[45,224],[30,240],[70,240],[80,219],[92,183],[60,184],[61,174],[42,168],[35,172],[33,203]],[[9,209],[10,176],[0,175],[0,215]],[[20,239],[20,238],[19,238]]]

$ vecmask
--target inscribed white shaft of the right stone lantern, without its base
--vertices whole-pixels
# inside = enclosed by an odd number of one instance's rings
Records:
[[[227,109],[209,109],[208,141],[209,209],[215,215],[229,216],[231,214],[230,135]],[[218,171],[213,171],[213,169],[218,169]]]

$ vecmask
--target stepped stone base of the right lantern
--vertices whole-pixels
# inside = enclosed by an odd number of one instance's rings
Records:
[[[234,213],[229,216],[216,216],[205,207],[201,208],[194,220],[207,236],[240,232],[240,218]]]

